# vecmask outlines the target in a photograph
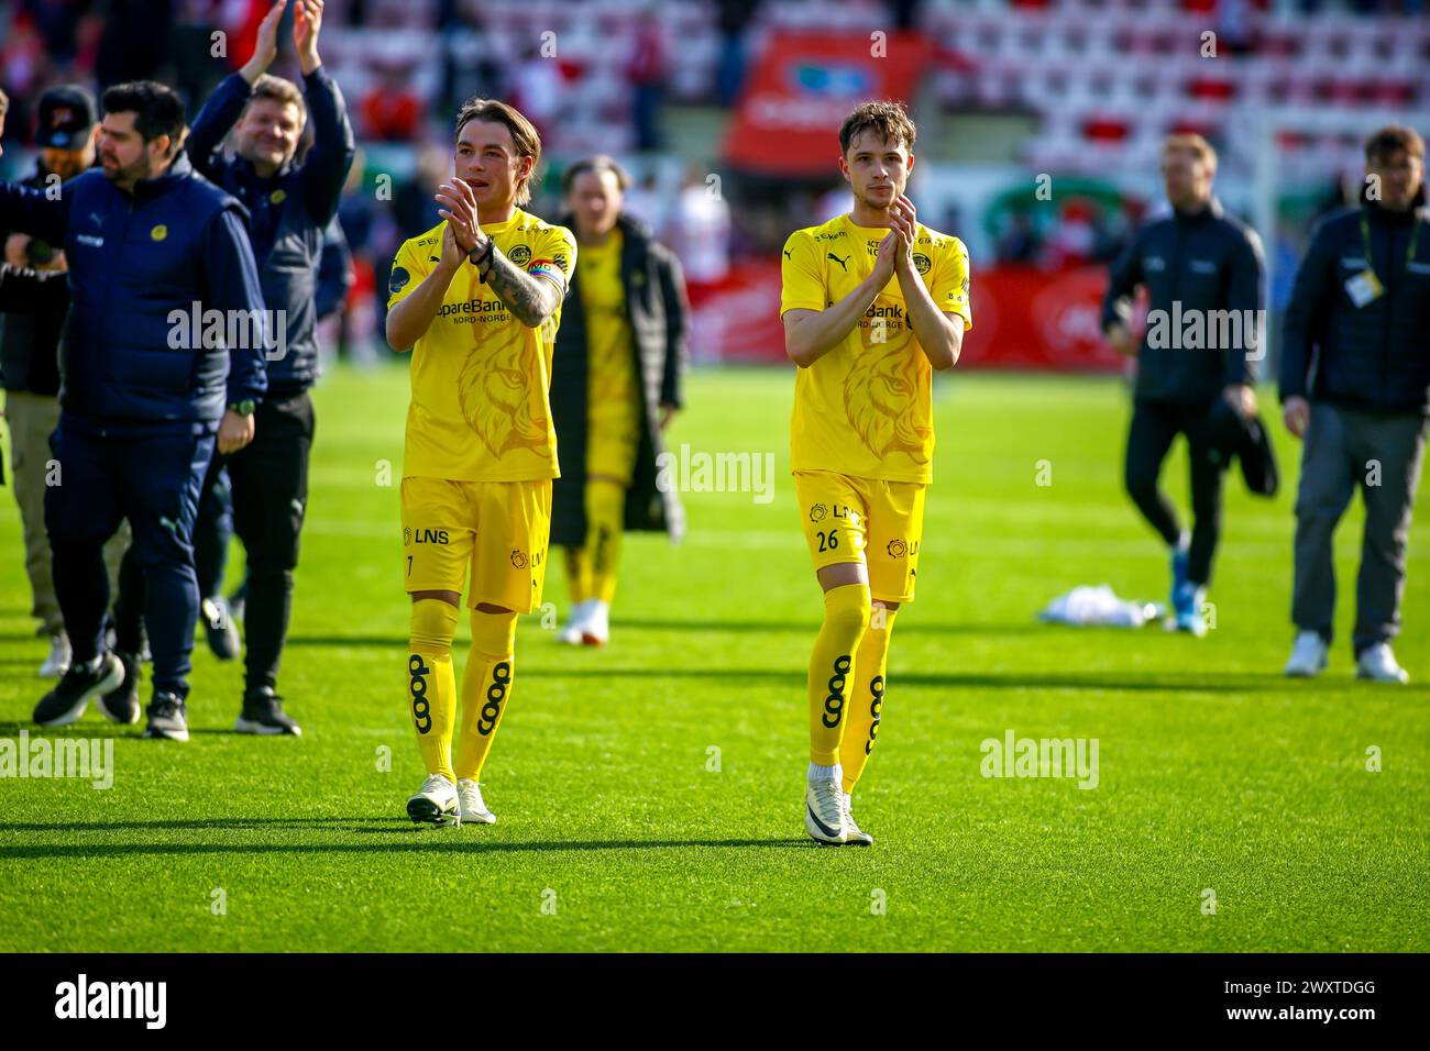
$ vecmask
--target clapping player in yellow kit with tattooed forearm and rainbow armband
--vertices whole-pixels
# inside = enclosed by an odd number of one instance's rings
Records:
[[[412,350],[402,472],[403,581],[412,596],[408,709],[428,769],[416,822],[492,824],[482,765],[511,705],[516,618],[541,603],[558,475],[548,390],[576,262],[569,230],[521,210],[541,160],[536,129],[502,102],[456,119],[443,222],[392,267],[388,342]],[[452,636],[463,586],[472,649],[456,759]]]

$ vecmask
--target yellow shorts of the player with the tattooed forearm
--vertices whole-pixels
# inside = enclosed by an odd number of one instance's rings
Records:
[[[402,565],[409,593],[466,589],[472,609],[489,602],[529,613],[541,605],[546,583],[549,536],[551,479],[402,479]]]

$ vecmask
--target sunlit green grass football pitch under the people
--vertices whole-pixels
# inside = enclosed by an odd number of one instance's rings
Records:
[[[774,499],[689,493],[684,546],[628,538],[605,651],[523,618],[483,775],[499,824],[432,829],[403,809],[422,779],[402,688],[408,382],[330,375],[282,676],[305,736],[230,734],[240,669],[202,642],[189,745],[116,734],[93,708],[49,731],[117,736],[114,784],[0,779],[0,949],[1430,948],[1430,691],[1353,679],[1358,505],[1338,533],[1331,668],[1280,678],[1296,449],[1278,423],[1281,495],[1228,479],[1205,639],[1034,622],[1077,583],[1164,596],[1163,551],[1121,492],[1127,396],[1107,379],[940,378],[918,601],[857,795],[877,845],[809,842],[804,669],[821,605],[788,476],[792,379],[691,378],[672,445],[772,452]],[[1180,449],[1167,469],[1185,505]],[[9,495],[0,542],[0,738],[14,739],[44,648]],[[1411,552],[1397,649],[1424,684],[1423,506]],[[546,599],[565,609],[559,561]],[[459,668],[465,636],[463,618]],[[984,778],[980,744],[1008,729],[1097,738],[1098,786]]]

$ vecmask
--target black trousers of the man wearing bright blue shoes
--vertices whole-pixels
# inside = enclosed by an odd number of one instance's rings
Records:
[[[1185,435],[1191,460],[1191,551],[1187,575],[1203,586],[1221,539],[1221,479],[1226,468],[1211,445],[1207,419],[1214,402],[1148,402],[1138,399],[1127,432],[1124,480],[1127,495],[1168,545],[1181,538],[1177,512],[1158,488],[1163,460],[1177,435]]]

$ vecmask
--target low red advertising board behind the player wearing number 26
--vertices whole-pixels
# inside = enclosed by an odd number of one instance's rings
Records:
[[[1120,372],[1124,362],[1100,332],[1104,292],[1103,266],[975,272],[974,327],[960,367]],[[692,346],[699,360],[786,360],[778,260],[746,260],[692,300]]]

